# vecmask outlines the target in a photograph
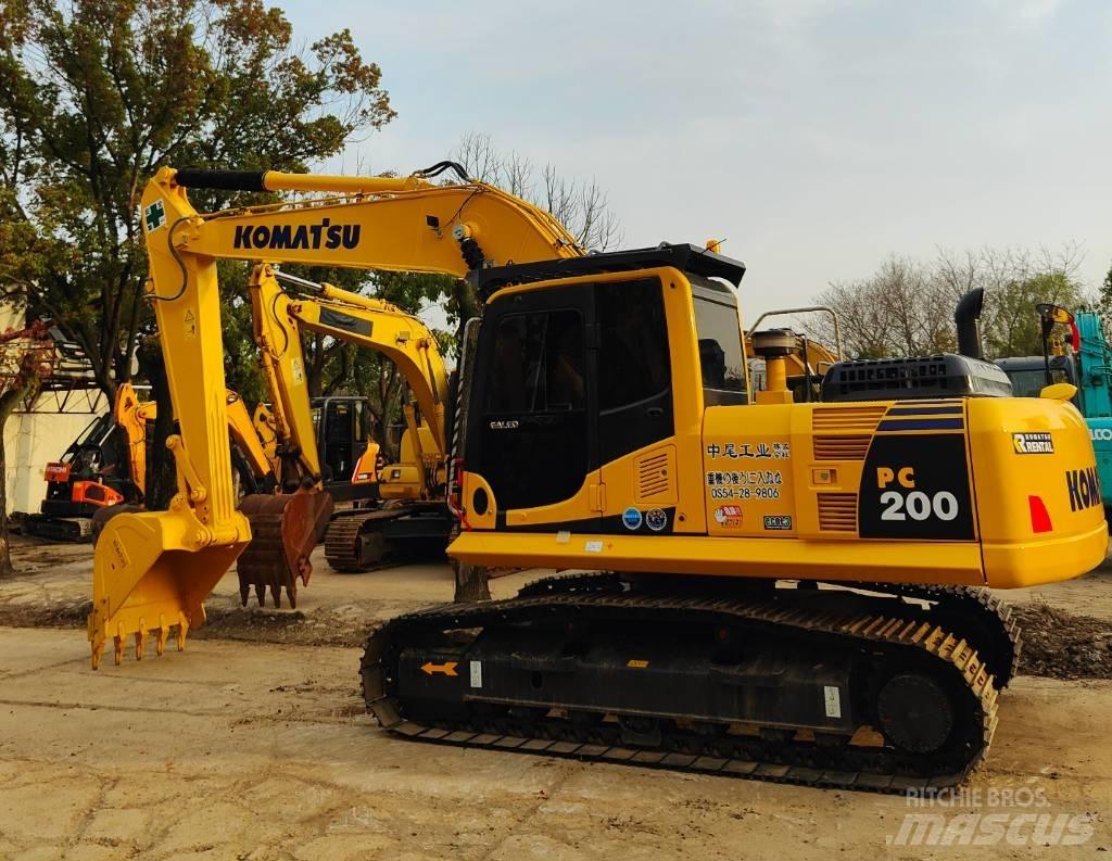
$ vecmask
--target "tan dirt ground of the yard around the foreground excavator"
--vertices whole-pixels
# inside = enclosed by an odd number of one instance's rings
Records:
[[[924,809],[900,796],[387,735],[363,712],[356,644],[383,618],[450,598],[446,566],[353,576],[320,560],[297,611],[240,610],[227,577],[209,602],[210,624],[183,654],[171,646],[93,673],[83,633],[89,548],[22,543],[16,557],[19,576],[0,581],[4,861],[1072,859],[1112,850],[1109,571],[1010,595],[1029,626],[1027,675],[1002,696],[985,766],[961,795],[925,811],[941,824],[920,845],[905,818]],[[498,581],[496,593],[530,576]],[[959,828],[986,815],[1004,817],[1014,835],[993,841],[983,828]],[[1066,838],[1036,834],[1032,822],[1066,822]]]

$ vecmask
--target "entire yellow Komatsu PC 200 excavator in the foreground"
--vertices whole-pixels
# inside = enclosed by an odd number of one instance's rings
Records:
[[[752,337],[767,377],[753,394],[741,263],[689,245],[585,255],[550,216],[461,170],[429,181],[445,169],[163,168],[148,185],[180,489],[170,511],[106,527],[95,663],[106,639],[119,654],[153,632],[161,650],[176,627],[181,646],[250,537],[227,481],[217,260],[448,273],[483,304],[453,423],[449,554],[589,573],[387,622],[361,666],[384,726],[821,785],[963,780],[1019,645],[984,587],[1104,557],[1069,393],[993,396],[986,363],[946,355],[843,363],[825,403],[793,403],[795,340],[774,331]],[[322,197],[201,215],[189,187]]]

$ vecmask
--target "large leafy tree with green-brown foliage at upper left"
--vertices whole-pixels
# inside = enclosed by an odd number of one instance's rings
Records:
[[[260,0],[0,0],[0,280],[26,286],[112,395],[151,317],[146,180],[166,164],[302,170],[395,116],[379,79],[347,30],[300,50]]]

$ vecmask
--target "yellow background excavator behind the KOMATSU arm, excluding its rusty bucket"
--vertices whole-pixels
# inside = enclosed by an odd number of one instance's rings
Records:
[[[279,281],[290,291],[284,290]],[[302,335],[325,335],[384,354],[406,380],[414,403],[404,406],[399,458],[375,464],[365,453],[353,481],[375,473],[383,505],[332,518],[325,556],[340,572],[367,571],[384,558],[416,550],[443,554],[453,521],[445,505],[448,375],[436,338],[414,315],[381,299],[298,278],[271,266],[250,279],[255,339],[271,393],[272,422],[301,472],[319,461],[305,378]]]

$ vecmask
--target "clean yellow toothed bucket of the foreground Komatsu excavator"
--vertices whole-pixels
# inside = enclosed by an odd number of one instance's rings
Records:
[[[232,533],[220,543],[198,546],[196,527],[181,512],[126,512],[105,524],[97,540],[88,620],[93,670],[109,640],[118,664],[132,637],[136,660],[141,660],[149,636],[161,655],[171,630],[181,651],[189,630],[205,624],[205,598],[247,542]]]

